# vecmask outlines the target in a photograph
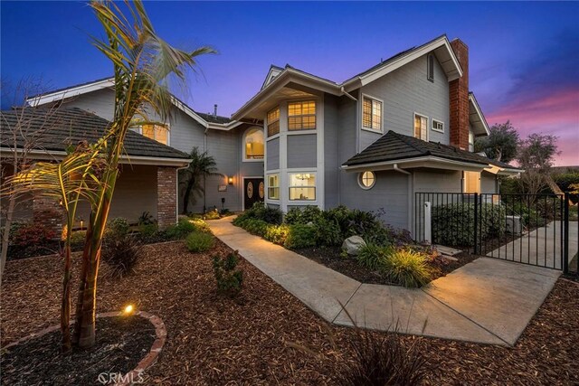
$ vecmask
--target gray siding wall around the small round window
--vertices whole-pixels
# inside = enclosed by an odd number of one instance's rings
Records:
[[[409,229],[408,225],[408,178],[398,172],[376,172],[372,189],[364,190],[357,183],[357,173],[342,174],[342,203],[348,208],[362,211],[384,209],[381,220],[394,228]]]

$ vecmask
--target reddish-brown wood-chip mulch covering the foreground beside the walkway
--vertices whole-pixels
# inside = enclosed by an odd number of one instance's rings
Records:
[[[354,330],[328,325],[244,259],[242,296],[218,296],[211,256],[230,251],[223,243],[205,254],[189,253],[182,242],[143,250],[132,275],[102,275],[98,311],[120,310],[130,302],[164,320],[166,344],[145,372],[147,384],[335,384],[335,374],[351,360],[347,343]],[[108,268],[101,269],[106,274]],[[2,344],[58,323],[61,274],[57,257],[7,263],[0,298]],[[403,339],[421,345],[426,384],[574,384],[579,382],[577,315],[579,285],[560,279],[513,348]]]

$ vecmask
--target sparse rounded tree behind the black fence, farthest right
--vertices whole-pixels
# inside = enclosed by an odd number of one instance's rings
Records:
[[[529,134],[520,142],[517,153],[518,165],[525,169],[520,183],[525,193],[536,194],[552,182],[549,172],[555,161],[557,137],[553,135]],[[553,183],[555,184],[555,183]]]

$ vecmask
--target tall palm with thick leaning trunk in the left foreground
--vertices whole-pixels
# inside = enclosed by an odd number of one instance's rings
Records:
[[[185,81],[185,68],[195,70],[195,58],[214,52],[209,47],[193,52],[177,50],[157,35],[140,0],[125,1],[122,6],[127,10],[126,14],[112,1],[93,0],[90,3],[106,33],[106,39],[92,38],[92,42],[113,63],[115,106],[101,146],[104,167],[96,200],[90,208],[82,254],[76,326],[72,337],[72,343],[81,348],[95,344],[100,247],[119,174],[119,157],[131,121],[134,118],[150,120],[147,119],[147,110],[154,111],[162,120],[168,118],[174,98],[167,86],[169,76]]]

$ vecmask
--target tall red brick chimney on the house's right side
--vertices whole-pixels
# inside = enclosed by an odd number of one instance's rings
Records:
[[[451,42],[462,76],[449,84],[451,100],[451,145],[469,149],[469,47],[460,39]]]

